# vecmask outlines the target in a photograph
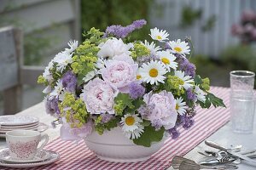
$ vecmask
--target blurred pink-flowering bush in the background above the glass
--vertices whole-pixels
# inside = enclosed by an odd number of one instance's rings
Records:
[[[241,44],[224,49],[222,62],[231,70],[256,72],[256,13],[250,9],[244,11],[240,23],[231,27],[231,33],[240,39]]]

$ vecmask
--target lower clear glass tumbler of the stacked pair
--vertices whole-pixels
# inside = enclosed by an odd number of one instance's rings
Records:
[[[230,95],[232,130],[235,133],[253,133],[255,97]]]

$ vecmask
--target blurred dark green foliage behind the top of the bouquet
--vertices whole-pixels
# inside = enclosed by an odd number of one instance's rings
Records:
[[[81,21],[83,31],[89,31],[94,26],[101,31],[109,25],[126,26],[133,20],[144,18],[148,20],[150,5],[154,0],[94,0],[81,1]],[[139,33],[134,32],[131,41],[148,37],[149,25],[144,26]]]

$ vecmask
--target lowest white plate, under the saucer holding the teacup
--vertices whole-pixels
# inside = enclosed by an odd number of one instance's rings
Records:
[[[38,167],[42,165],[47,165],[49,163],[55,162],[60,158],[60,155],[52,150],[48,150],[50,157],[45,161],[38,161],[33,163],[7,163],[5,161],[0,161],[0,166],[3,167],[13,167],[13,168],[27,168],[27,167]]]

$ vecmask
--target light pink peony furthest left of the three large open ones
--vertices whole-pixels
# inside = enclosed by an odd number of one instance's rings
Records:
[[[107,111],[109,114],[114,114],[113,99],[117,94],[117,88],[96,77],[84,86],[80,97],[84,100],[86,109],[90,114],[101,114]]]

